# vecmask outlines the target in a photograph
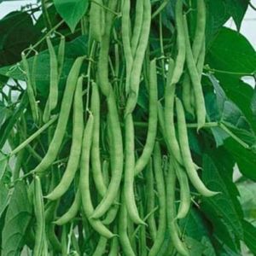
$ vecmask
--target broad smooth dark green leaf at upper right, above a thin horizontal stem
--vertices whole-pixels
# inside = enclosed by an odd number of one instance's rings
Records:
[[[208,50],[205,63],[222,72],[253,73],[256,68],[256,53],[247,38],[223,27]]]

